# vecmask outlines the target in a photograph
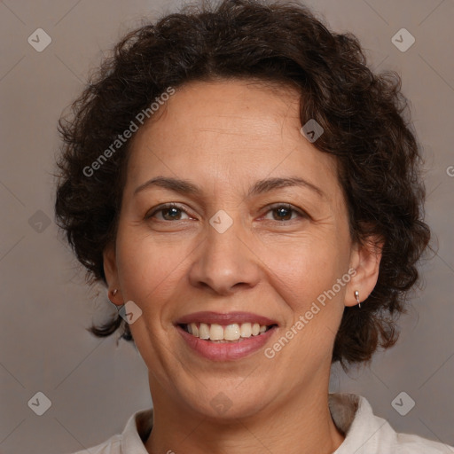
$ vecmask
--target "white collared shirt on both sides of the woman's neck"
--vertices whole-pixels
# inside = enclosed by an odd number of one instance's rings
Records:
[[[454,454],[454,448],[418,435],[397,434],[386,419],[375,416],[362,395],[332,393],[328,397],[334,424],[345,440],[333,454]],[[122,434],[90,450],[74,454],[148,454],[145,441],[153,427],[153,409],[137,411]]]

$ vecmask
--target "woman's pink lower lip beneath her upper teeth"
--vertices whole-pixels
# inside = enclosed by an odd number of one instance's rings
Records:
[[[181,326],[176,326],[186,343],[201,356],[212,361],[230,361],[243,358],[262,348],[276,331],[276,326],[257,336],[243,338],[239,342],[212,342],[187,333]]]

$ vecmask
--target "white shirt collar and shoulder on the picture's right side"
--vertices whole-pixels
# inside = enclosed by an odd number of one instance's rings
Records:
[[[452,454],[454,449],[419,435],[398,434],[386,419],[373,414],[362,395],[330,394],[334,424],[345,440],[333,454]]]

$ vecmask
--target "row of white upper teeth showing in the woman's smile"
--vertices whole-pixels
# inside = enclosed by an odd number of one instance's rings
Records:
[[[258,323],[242,323],[242,324],[231,324],[231,325],[218,325],[218,324],[206,324],[206,323],[190,323],[190,324],[179,324],[186,333],[192,334],[192,336],[210,340],[216,343],[227,343],[227,342],[241,342],[251,337],[257,337],[270,331],[270,329],[278,326],[274,325],[260,325]]]

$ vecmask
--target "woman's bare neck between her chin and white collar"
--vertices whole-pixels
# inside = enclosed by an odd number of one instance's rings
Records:
[[[153,386],[156,383],[153,383]],[[286,395],[286,401],[245,418],[219,422],[187,409],[164,392],[153,393],[154,424],[145,443],[149,454],[333,454],[344,435],[333,423],[328,407],[328,385],[317,392]],[[156,396],[156,397],[155,397]]]

